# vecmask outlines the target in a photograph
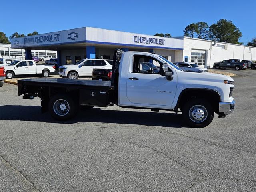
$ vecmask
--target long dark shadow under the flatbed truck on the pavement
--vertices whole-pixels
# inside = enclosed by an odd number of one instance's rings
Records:
[[[123,110],[104,110],[93,108],[79,111],[77,116],[69,121],[56,121],[49,113],[41,113],[40,106],[4,105],[0,106],[1,120],[38,121],[61,124],[78,122],[99,122],[116,124],[137,124],[146,126],[182,127],[181,114],[160,112],[140,112]]]

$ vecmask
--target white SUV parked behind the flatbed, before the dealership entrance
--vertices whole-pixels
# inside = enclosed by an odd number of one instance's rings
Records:
[[[93,69],[112,69],[112,64],[113,60],[108,59],[83,59],[76,64],[60,66],[59,75],[69,79],[92,77]]]

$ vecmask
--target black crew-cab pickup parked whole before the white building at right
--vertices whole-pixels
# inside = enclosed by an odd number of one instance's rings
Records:
[[[235,70],[246,69],[247,64],[245,62],[235,62],[234,59],[223,60],[222,62],[214,63],[215,69],[220,68],[234,68]]]

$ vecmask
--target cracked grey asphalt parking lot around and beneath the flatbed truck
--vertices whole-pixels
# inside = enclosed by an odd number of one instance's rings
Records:
[[[234,112],[202,129],[117,106],[56,122],[5,83],[0,191],[256,191],[256,70],[232,73]]]

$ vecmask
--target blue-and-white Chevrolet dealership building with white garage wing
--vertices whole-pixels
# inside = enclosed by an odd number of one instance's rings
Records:
[[[2,56],[2,45],[0,51]],[[171,62],[194,62],[212,68],[214,62],[235,58],[256,60],[256,47],[188,37],[164,38],[146,34],[83,27],[11,39],[12,51],[25,57],[56,54],[58,63],[74,64],[84,58],[112,59],[116,48],[159,54]],[[47,50],[47,51],[45,51]],[[4,54],[7,52],[3,52]],[[10,52],[9,56],[12,56]],[[6,57],[6,55],[5,55]]]

